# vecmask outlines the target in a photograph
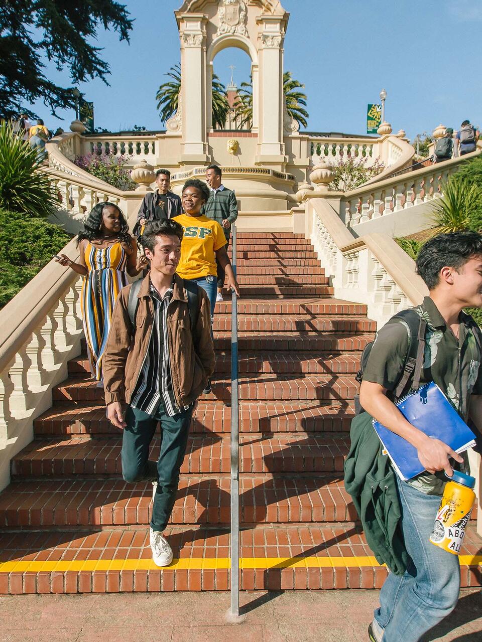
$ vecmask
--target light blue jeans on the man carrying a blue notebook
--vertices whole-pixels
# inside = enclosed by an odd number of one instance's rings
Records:
[[[375,620],[383,642],[417,642],[451,613],[460,591],[458,555],[429,542],[440,497],[425,495],[397,478],[402,530],[413,560],[402,576],[389,573],[380,591]]]

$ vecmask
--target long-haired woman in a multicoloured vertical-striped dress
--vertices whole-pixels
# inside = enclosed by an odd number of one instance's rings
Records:
[[[65,254],[56,260],[84,276],[81,293],[82,320],[93,379],[102,386],[102,355],[111,327],[112,311],[127,274],[136,276],[147,265],[137,259],[136,239],[122,212],[112,203],[95,205],[78,235],[79,262]],[[127,274],[126,274],[127,272]]]

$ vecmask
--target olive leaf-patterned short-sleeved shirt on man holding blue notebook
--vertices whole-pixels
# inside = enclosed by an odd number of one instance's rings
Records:
[[[481,354],[474,332],[472,317],[460,313],[460,332],[457,339],[430,297],[414,308],[427,322],[425,355],[420,385],[434,381],[449,399],[464,421],[469,415],[470,395],[482,394]],[[409,349],[409,326],[401,320],[380,328],[364,369],[364,381],[379,383],[393,392],[402,376]],[[479,372],[480,370],[480,372]],[[463,464],[451,462],[462,471],[469,471],[467,452]],[[409,480],[412,486],[430,495],[442,495],[447,478],[443,471],[421,473]]]

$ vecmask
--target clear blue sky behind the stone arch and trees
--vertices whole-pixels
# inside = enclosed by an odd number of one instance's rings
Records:
[[[181,0],[124,0],[133,18],[130,44],[100,30],[98,46],[111,66],[110,87],[100,80],[80,85],[94,101],[95,125],[109,130],[162,127],[155,94],[163,74],[179,62],[174,10]],[[409,137],[439,123],[458,128],[468,118],[482,124],[479,83],[482,3],[478,0],[282,0],[290,12],[285,71],[305,83],[308,130],[364,134],[367,103],[384,87],[386,119]],[[214,66],[227,84],[249,80],[249,58],[225,49]],[[69,86],[66,71],[47,67],[48,77]],[[67,129],[42,103],[35,111],[51,129]]]

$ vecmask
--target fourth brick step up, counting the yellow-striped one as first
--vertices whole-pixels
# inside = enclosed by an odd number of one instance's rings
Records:
[[[347,433],[353,410],[347,403],[322,405],[319,401],[304,403],[242,401],[240,403],[241,433]],[[33,424],[35,435],[118,435],[120,430],[105,417],[105,406],[98,404],[56,404]],[[222,401],[199,401],[192,433],[229,433],[231,408]]]

